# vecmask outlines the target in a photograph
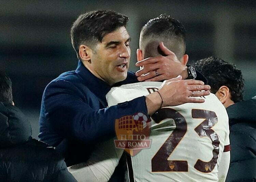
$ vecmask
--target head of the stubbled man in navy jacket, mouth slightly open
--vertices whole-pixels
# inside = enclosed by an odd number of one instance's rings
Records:
[[[109,85],[127,77],[131,54],[127,22],[127,16],[114,11],[91,11],[80,15],[71,28],[77,57]]]

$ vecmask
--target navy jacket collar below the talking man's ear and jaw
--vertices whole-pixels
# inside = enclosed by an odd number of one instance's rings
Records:
[[[101,104],[106,107],[106,94],[110,91],[111,86],[92,74],[80,60],[75,72],[83,79],[86,87],[99,98]]]

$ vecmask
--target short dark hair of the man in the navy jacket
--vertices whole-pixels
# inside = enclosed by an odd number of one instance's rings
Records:
[[[110,10],[90,11],[80,15],[73,23],[70,33],[74,50],[78,54],[81,44],[93,47],[106,34],[122,26],[126,27],[127,22],[127,16]]]

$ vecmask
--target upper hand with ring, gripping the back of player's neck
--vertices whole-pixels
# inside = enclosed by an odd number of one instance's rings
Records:
[[[167,49],[163,42],[159,43],[160,50],[167,56],[149,57],[138,61],[137,67],[143,66],[136,72],[139,81],[161,81],[181,75],[187,77],[187,66],[183,65],[177,56]],[[146,74],[143,76],[143,74]]]

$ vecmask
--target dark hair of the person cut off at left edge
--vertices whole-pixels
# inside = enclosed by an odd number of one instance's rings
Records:
[[[12,104],[12,81],[4,73],[0,72],[0,102]]]

